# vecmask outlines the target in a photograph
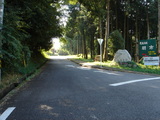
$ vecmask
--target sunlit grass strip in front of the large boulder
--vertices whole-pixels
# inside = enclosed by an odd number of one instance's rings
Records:
[[[78,60],[81,60],[81,61],[87,62],[87,63],[92,63],[94,65],[101,65],[100,62],[94,62],[93,59],[78,58]],[[160,67],[159,66],[146,66],[143,64],[135,63],[135,62],[131,62],[130,64],[132,64],[132,65],[125,65],[125,64],[120,65],[120,64],[115,63],[113,61],[107,61],[107,62],[103,62],[102,66],[160,75]],[[133,67],[133,65],[135,65],[135,66]]]

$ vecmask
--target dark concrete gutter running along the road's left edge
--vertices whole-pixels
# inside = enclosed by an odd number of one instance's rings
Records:
[[[18,80],[17,83],[12,83],[10,85],[8,85],[6,88],[2,89],[0,91],[0,100],[3,99],[10,91],[12,91],[13,89],[15,89],[16,87],[18,87],[23,81],[25,81],[28,77],[30,77],[31,75],[33,75],[38,69],[40,69],[48,60],[46,60],[44,63],[42,63],[40,66],[38,66],[34,71],[32,71],[31,73],[24,75],[22,78],[20,78]]]

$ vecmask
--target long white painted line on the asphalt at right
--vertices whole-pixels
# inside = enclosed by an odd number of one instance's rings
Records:
[[[160,79],[160,77],[131,80],[131,81],[126,81],[126,82],[110,84],[110,86],[116,87],[116,86],[121,86],[125,84],[131,84],[131,83],[142,82],[142,81],[150,81],[150,80],[158,80],[158,79]]]

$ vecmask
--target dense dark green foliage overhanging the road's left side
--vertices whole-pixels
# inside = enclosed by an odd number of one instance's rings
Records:
[[[20,72],[61,35],[57,0],[5,0],[2,72]],[[39,62],[39,61],[36,61]]]

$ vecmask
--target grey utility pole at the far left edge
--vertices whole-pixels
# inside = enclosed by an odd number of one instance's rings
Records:
[[[4,14],[4,0],[0,0],[0,33],[2,32],[2,26],[3,26],[3,14]],[[2,81],[1,66],[2,66],[2,34],[0,34],[0,83]]]

